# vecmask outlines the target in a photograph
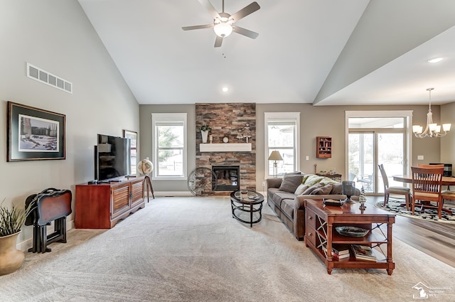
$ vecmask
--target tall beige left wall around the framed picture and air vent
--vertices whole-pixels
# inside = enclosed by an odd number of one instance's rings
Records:
[[[94,177],[97,134],[139,131],[139,104],[76,0],[0,6],[0,202],[23,205],[50,187],[68,188],[74,199],[75,184]],[[73,94],[26,77],[27,62],[73,82]],[[66,159],[6,162],[6,101],[65,114]],[[31,231],[23,227],[19,242]]]

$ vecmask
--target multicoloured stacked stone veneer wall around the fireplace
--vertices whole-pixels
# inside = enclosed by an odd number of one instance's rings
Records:
[[[223,137],[229,143],[238,143],[236,139],[240,131],[249,124],[252,144],[251,152],[200,152],[202,136],[199,126],[208,124],[212,131],[213,144],[224,144]],[[240,188],[256,190],[256,104],[196,104],[196,167],[212,168],[212,166],[240,166]],[[243,141],[245,143],[245,139]],[[209,143],[209,141],[208,141]],[[230,192],[214,191],[212,195],[229,195]]]

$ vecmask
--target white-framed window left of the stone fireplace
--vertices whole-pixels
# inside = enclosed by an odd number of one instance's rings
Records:
[[[154,113],[151,122],[154,178],[186,179],[186,113]]]

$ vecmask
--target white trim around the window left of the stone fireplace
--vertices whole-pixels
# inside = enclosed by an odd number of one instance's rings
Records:
[[[151,158],[154,164],[158,165],[158,136],[156,135],[156,122],[183,122],[183,176],[156,176],[157,169],[154,169],[152,179],[155,180],[186,180],[188,178],[188,124],[186,113],[152,113],[151,114],[151,132],[152,132],[152,146]]]

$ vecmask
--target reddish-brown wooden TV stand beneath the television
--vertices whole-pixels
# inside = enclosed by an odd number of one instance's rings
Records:
[[[76,229],[110,229],[119,220],[145,207],[144,177],[119,180],[76,185]]]

